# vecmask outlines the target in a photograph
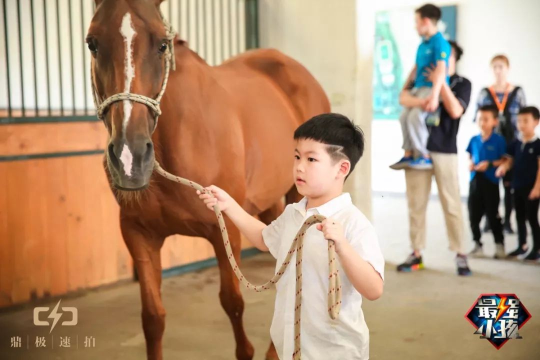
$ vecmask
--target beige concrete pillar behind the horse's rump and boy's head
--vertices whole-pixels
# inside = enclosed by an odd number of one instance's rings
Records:
[[[259,1],[260,47],[274,47],[306,66],[325,89],[332,111],[364,131],[366,150],[345,191],[370,218],[373,10],[357,11],[356,0]]]

